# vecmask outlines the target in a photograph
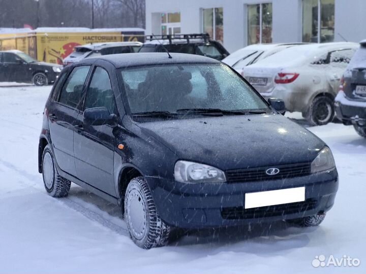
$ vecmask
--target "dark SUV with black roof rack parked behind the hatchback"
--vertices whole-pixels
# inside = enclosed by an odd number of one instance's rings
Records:
[[[229,55],[224,46],[211,40],[207,33],[188,35],[146,36],[139,52],[189,53],[222,60]]]

